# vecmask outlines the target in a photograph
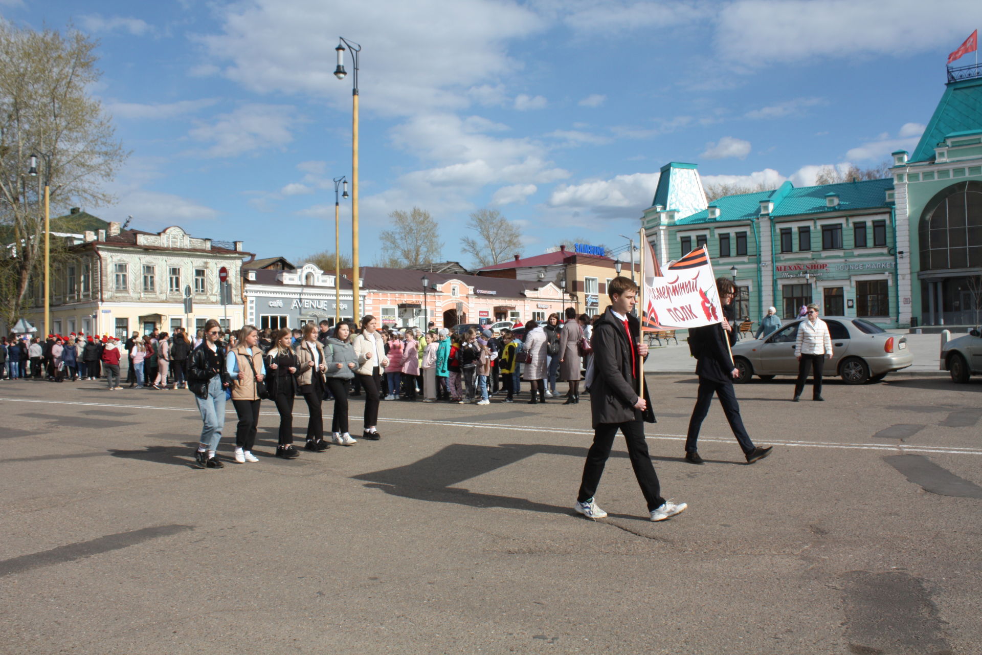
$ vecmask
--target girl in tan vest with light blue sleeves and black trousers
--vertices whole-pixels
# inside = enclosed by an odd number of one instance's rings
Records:
[[[161,333],[159,342],[166,344],[167,333]],[[236,426],[235,459],[239,464],[256,463],[252,455],[255,433],[259,425],[259,383],[265,379],[266,366],[259,350],[259,331],[254,325],[246,325],[239,333],[239,341],[226,356],[226,370],[232,380],[232,406],[239,416]],[[167,379],[164,378],[166,385]]]

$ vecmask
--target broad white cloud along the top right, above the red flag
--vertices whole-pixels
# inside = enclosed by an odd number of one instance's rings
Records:
[[[976,0],[737,0],[720,8],[713,40],[725,60],[757,67],[951,50],[980,21]]]

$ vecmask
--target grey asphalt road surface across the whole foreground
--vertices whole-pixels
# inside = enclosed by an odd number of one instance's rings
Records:
[[[658,523],[623,440],[610,517],[573,514],[586,402],[383,403],[381,441],[293,462],[265,403],[267,457],[201,470],[188,392],[4,381],[0,652],[982,652],[982,380],[739,386],[774,454],[744,464],[714,404],[701,466],[694,379],[651,382],[689,505]]]

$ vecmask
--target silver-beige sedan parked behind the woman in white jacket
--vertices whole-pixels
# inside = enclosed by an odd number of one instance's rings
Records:
[[[907,338],[887,332],[862,318],[823,316],[832,338],[832,358],[825,362],[829,375],[840,375],[846,384],[879,382],[887,373],[906,368],[914,362],[907,349]],[[749,382],[756,375],[770,380],[775,375],[797,375],[797,340],[801,319],[771,333],[766,339],[744,339],[733,347],[734,363],[739,377],[734,382]],[[834,371],[834,372],[833,372]]]

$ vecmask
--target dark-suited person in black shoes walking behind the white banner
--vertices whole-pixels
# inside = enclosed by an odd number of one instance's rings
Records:
[[[685,438],[685,461],[692,464],[703,464],[703,459],[699,457],[696,447],[696,440],[699,438],[699,428],[702,426],[702,421],[709,413],[713,394],[716,394],[747,464],[753,464],[770,455],[772,447],[755,447],[743,427],[743,419],[739,414],[739,405],[736,403],[733,384],[733,378],[739,376],[739,370],[734,363],[733,354],[727,347],[728,339],[731,342],[730,345],[733,346],[734,330],[726,315],[726,307],[733,301],[736,287],[733,280],[721,277],[716,280],[716,290],[724,305],[725,320],[720,325],[706,325],[688,330],[689,350],[697,360],[695,373],[699,376],[699,391],[695,407],[692,409],[692,417],[688,421],[688,435]]]

